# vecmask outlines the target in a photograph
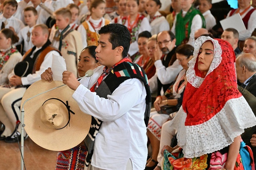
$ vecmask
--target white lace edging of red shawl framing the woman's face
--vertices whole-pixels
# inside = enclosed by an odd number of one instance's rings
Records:
[[[221,63],[222,60],[222,49],[221,46],[219,45],[218,41],[215,39],[212,39],[210,37],[205,37],[205,36],[201,36],[199,38],[197,38],[196,43],[195,43],[195,51],[194,51],[194,57],[188,62],[189,67],[187,70],[187,81],[194,87],[199,88],[199,86],[202,84],[204,78],[198,77],[196,76],[196,72],[195,72],[195,63],[196,63],[196,59],[198,56],[198,53],[200,51],[200,48],[202,46],[202,44],[205,41],[212,41],[213,46],[214,46],[214,56],[213,56],[213,60],[212,63],[210,65],[209,71],[207,72],[207,74],[205,75],[205,77],[207,77],[207,75],[212,72],[216,67],[218,67],[218,65]]]

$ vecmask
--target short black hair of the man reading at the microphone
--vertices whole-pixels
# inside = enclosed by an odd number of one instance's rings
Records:
[[[123,46],[122,56],[123,58],[127,56],[131,41],[131,34],[127,27],[119,23],[110,23],[101,27],[98,33],[110,34],[109,42],[112,44],[112,50],[118,46]]]

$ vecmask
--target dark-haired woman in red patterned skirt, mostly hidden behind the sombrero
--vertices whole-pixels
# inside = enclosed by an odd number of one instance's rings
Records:
[[[95,49],[97,46],[85,47],[80,56],[78,63],[78,73],[80,77],[83,77],[88,70],[93,70],[100,66],[99,62],[96,60]],[[66,151],[59,151],[57,154],[56,169],[61,170],[63,168],[69,170],[74,167],[80,167],[79,169],[84,169],[85,156],[87,150],[83,142],[72,149]],[[63,156],[65,155],[65,156]]]

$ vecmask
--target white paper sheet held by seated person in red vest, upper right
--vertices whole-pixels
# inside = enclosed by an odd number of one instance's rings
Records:
[[[246,30],[243,20],[239,13],[232,15],[231,17],[228,17],[226,19],[223,19],[219,22],[221,22],[223,30],[226,30],[227,28],[234,28],[238,32]]]

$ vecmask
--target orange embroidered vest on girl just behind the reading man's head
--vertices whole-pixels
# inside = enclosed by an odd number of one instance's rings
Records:
[[[105,19],[105,25],[108,25],[110,23],[109,20]],[[88,23],[86,21],[84,21],[82,23],[82,25],[84,26],[85,30],[86,30],[86,36],[87,36],[87,46],[98,46],[98,34],[97,32],[91,32],[89,30],[89,26]]]

